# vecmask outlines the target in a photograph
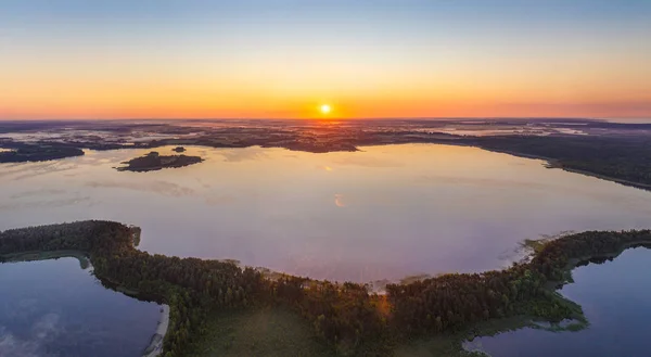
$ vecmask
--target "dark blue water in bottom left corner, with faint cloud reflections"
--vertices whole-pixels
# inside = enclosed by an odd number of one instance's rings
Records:
[[[141,356],[161,307],[102,286],[75,258],[0,264],[0,356]]]

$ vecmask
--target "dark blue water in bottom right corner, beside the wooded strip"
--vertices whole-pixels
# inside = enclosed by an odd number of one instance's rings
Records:
[[[494,357],[648,357],[651,320],[651,251],[624,252],[613,262],[574,270],[575,283],[561,293],[583,306],[590,322],[578,332],[522,329],[475,339]]]

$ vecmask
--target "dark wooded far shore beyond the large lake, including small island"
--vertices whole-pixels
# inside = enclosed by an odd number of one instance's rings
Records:
[[[414,122],[418,123],[418,122]],[[310,128],[290,131],[268,128],[250,129],[255,132],[243,132],[241,128],[227,128],[218,133],[197,135],[184,139],[156,139],[136,143],[114,141],[82,140],[52,141],[40,140],[21,142],[0,138],[0,148],[9,151],[0,152],[0,163],[24,163],[61,160],[84,155],[84,150],[117,149],[155,149],[165,145],[199,145],[208,148],[285,148],[289,150],[312,153],[359,150],[363,145],[383,145],[400,143],[438,143],[450,145],[476,146],[494,152],[506,152],[516,156],[538,157],[550,162],[551,167],[578,171],[622,184],[641,189],[651,189],[651,125],[623,125],[586,122],[592,130],[605,135],[588,136],[457,136],[444,132],[422,133],[420,131],[382,131],[374,127],[367,130],[341,130]],[[128,130],[130,126],[116,128]],[[20,127],[15,130],[18,130]],[[30,129],[29,127],[27,129]],[[31,128],[33,129],[33,128]],[[163,126],[161,130],[187,133],[189,128],[171,128]],[[174,131],[177,130],[177,131]],[[611,133],[608,130],[613,130]],[[628,130],[626,135],[617,135],[617,130]],[[314,131],[314,132],[312,132]],[[0,128],[0,132],[2,132]],[[7,132],[11,132],[7,131]],[[181,146],[177,146],[179,149]],[[177,151],[175,149],[175,151]],[[181,152],[181,151],[177,151]],[[161,164],[161,158],[166,164]],[[179,160],[180,158],[180,160]],[[143,156],[135,158],[133,167],[128,165],[122,169],[151,170],[164,167],[179,167],[200,163],[201,157],[173,155]],[[127,163],[128,164],[128,163]],[[142,166],[142,167],[141,167]]]

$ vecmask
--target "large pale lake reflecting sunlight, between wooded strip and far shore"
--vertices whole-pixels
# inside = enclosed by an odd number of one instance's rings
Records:
[[[651,226],[647,191],[475,148],[188,149],[206,161],[117,171],[149,152],[118,150],[2,164],[0,229],[111,219],[140,226],[152,253],[368,282],[503,267],[545,234]]]

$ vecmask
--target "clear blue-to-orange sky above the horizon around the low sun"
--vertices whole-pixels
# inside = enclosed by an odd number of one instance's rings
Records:
[[[651,117],[648,0],[0,0],[0,119]]]

